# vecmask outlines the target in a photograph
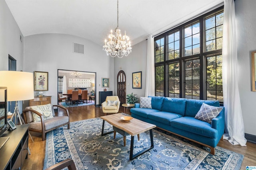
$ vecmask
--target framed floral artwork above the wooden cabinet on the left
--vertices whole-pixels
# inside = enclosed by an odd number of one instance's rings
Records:
[[[34,71],[34,91],[48,91],[48,72]]]

